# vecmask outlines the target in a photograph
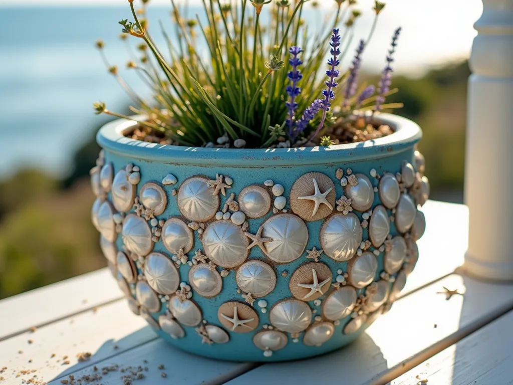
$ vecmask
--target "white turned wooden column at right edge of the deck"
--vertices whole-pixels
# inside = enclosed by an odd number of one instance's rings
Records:
[[[463,268],[484,279],[513,280],[513,0],[482,1],[468,81],[470,225]]]

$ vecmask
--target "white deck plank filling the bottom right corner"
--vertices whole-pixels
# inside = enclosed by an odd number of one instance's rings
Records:
[[[513,383],[513,312],[451,345],[391,381],[391,385],[497,385]]]

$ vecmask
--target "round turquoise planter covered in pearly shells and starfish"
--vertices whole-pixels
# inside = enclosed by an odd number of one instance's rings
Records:
[[[280,361],[354,340],[418,259],[422,134],[329,148],[218,149],[98,133],[93,224],[130,309],[203,356]]]

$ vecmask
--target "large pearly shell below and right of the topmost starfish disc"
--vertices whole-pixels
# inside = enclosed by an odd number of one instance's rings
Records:
[[[342,262],[356,254],[362,243],[363,229],[355,214],[337,213],[324,222],[319,237],[324,253]]]

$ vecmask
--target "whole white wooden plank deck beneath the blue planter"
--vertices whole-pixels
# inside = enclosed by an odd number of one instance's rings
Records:
[[[144,374],[135,385],[513,383],[513,285],[458,274],[465,206],[430,201],[423,210],[428,230],[401,298],[345,349],[277,364],[195,357],[157,338],[102,269],[0,301],[0,385],[121,385],[129,367]],[[446,300],[444,286],[463,295]],[[92,374],[102,378],[78,381]]]

